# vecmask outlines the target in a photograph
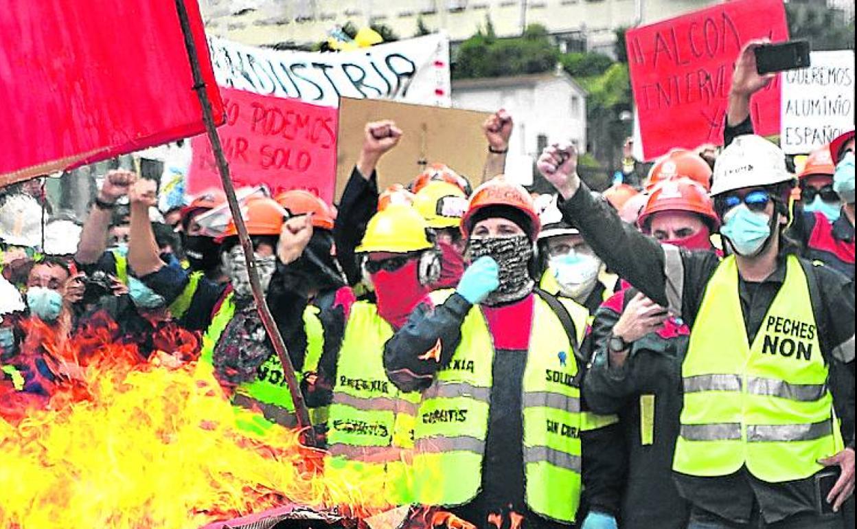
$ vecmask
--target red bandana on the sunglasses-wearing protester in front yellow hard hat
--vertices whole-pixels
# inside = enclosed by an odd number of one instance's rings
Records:
[[[394,328],[401,328],[411,316],[411,310],[428,300],[428,287],[421,285],[417,274],[417,260],[412,259],[402,268],[372,274],[378,314]]]

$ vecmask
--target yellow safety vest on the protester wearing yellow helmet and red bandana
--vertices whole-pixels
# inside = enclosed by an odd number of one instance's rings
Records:
[[[351,307],[337,362],[327,421],[326,472],[383,490],[394,505],[413,501],[409,460],[420,395],[399,391],[384,371],[384,344],[393,328],[375,304]]]

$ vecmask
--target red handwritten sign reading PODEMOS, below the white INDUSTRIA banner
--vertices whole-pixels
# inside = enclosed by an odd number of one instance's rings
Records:
[[[264,183],[277,193],[308,189],[328,203],[336,178],[337,110],[300,99],[277,98],[220,87],[226,124],[218,134],[238,186]],[[220,187],[207,136],[191,141],[190,195]]]

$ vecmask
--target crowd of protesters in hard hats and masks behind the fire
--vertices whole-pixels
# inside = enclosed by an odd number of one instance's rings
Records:
[[[502,175],[505,111],[475,178],[379,189],[406,134],[380,121],[336,207],[241,194],[325,472],[450,526],[853,526],[854,131],[797,167],[753,135],[754,45],[722,150],[646,171],[626,146],[602,194],[571,145],[538,159],[554,194]],[[225,202],[159,212],[155,182],[110,171],[79,224],[37,180],[3,189],[2,383],[50,396],[76,376],[57,347],[106,329],[141,363],[210,366],[257,412],[240,428],[294,428]]]

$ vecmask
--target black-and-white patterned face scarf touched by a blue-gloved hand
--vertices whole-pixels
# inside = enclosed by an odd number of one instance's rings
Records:
[[[523,299],[533,290],[536,284],[530,277],[528,265],[533,256],[533,245],[530,237],[515,235],[513,237],[470,238],[470,261],[488,255],[497,261],[500,267],[500,287],[491,292],[482,303],[488,306],[509,303]]]

